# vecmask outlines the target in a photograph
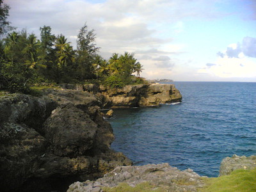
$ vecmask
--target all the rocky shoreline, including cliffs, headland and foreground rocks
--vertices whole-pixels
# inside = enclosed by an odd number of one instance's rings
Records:
[[[180,102],[182,96],[175,86],[62,87],[44,90],[40,97],[20,93],[0,97],[2,191],[108,191],[120,185],[198,191],[205,186],[206,177],[193,170],[180,171],[166,163],[132,166],[124,154],[111,150],[113,129],[101,109]],[[227,157],[220,176],[253,169],[255,164],[256,156]]]

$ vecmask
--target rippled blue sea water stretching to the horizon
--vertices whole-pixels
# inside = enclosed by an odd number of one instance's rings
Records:
[[[173,82],[181,104],[115,109],[111,145],[134,163],[218,176],[227,156],[256,155],[256,83]]]

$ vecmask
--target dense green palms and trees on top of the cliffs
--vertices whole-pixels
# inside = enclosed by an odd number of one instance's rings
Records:
[[[9,6],[0,0],[0,88],[29,92],[35,83],[84,83],[94,80],[111,87],[142,83],[143,69],[133,54],[114,53],[104,60],[95,45],[95,33],[88,26],[80,29],[77,47],[67,38],[40,28],[40,39],[26,30],[15,31],[8,18]],[[3,36],[5,36],[3,38]],[[136,73],[137,77],[132,75]]]

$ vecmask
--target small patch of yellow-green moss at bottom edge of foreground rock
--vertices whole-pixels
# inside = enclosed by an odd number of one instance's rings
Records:
[[[118,186],[114,188],[103,188],[104,192],[116,192],[116,191],[122,191],[122,192],[163,192],[166,191],[166,189],[154,186],[153,184],[150,184],[149,182],[142,182],[135,187],[129,186],[127,183],[121,183],[118,184]]]

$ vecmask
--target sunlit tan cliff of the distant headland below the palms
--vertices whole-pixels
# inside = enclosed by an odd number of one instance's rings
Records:
[[[182,95],[173,84],[136,84],[124,88],[106,88],[97,84],[62,84],[63,88],[93,93],[104,108],[135,108],[180,102]]]

